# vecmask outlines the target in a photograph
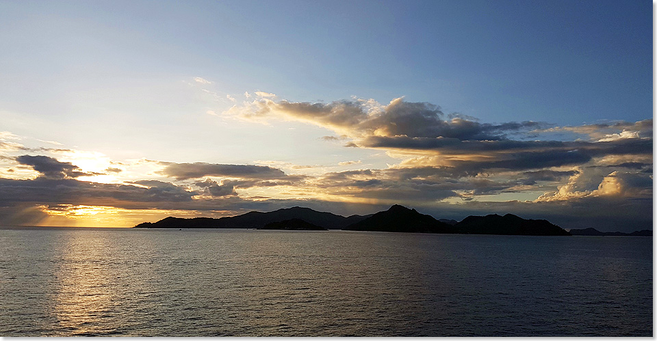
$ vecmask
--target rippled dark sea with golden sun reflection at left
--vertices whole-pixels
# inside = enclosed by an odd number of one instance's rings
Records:
[[[652,238],[0,230],[0,336],[652,336]]]

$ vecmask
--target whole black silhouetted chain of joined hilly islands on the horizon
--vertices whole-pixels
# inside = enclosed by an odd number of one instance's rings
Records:
[[[415,209],[393,205],[374,215],[343,217],[311,208],[281,208],[268,213],[249,212],[235,217],[175,218],[140,223],[135,228],[257,228],[261,230],[349,230],[422,232],[442,234],[507,234],[570,236],[571,233],[544,219],[523,219],[506,214],[466,217],[462,221],[435,219]]]

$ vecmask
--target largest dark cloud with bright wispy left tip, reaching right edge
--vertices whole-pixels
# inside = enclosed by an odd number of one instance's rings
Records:
[[[458,113],[445,115],[437,105],[406,102],[402,98],[392,100],[389,105],[360,99],[332,103],[260,100],[235,111],[260,117],[282,114],[312,122],[350,137],[352,141],[346,142],[346,147],[391,150],[401,157],[404,152],[456,156],[443,159],[445,162],[440,164],[454,166],[456,173],[465,174],[490,169],[575,166],[608,155],[652,154],[651,119],[554,128],[532,121],[491,124]],[[548,131],[587,134],[591,140],[537,139]],[[524,139],[511,138],[521,135]],[[527,140],[530,135],[535,140]]]

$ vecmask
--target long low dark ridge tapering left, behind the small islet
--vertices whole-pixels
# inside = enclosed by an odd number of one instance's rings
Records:
[[[252,211],[244,215],[222,218],[175,218],[166,217],[155,223],[140,223],[136,228],[263,228],[268,223],[301,219],[320,228],[342,229],[352,223],[361,221],[368,215],[351,215],[342,217],[328,212],[318,212],[311,208],[281,208],[272,212]]]

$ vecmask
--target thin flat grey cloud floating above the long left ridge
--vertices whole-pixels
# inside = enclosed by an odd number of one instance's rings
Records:
[[[227,178],[246,179],[282,179],[286,178],[281,169],[257,166],[257,165],[222,165],[217,163],[169,163],[162,174],[176,178],[176,180],[187,180],[203,178],[205,176],[221,176]]]

